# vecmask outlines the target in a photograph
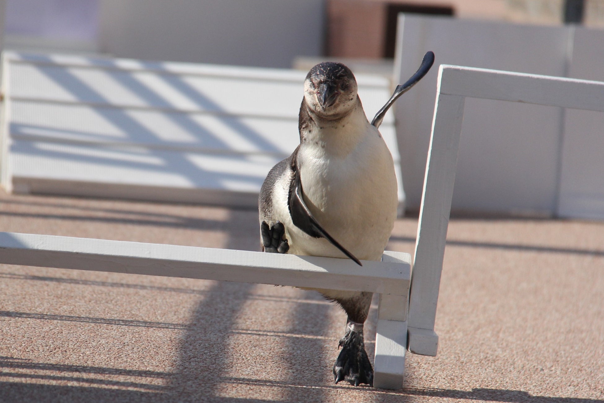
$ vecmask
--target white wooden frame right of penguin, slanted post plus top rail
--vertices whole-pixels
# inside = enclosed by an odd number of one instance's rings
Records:
[[[408,313],[408,349],[436,355],[440,274],[466,97],[604,111],[604,82],[441,65]]]

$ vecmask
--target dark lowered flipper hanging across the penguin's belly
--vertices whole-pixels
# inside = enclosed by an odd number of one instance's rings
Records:
[[[333,246],[338,248],[350,259],[354,260],[356,264],[362,266],[361,261],[359,259],[356,259],[355,255],[346,250],[346,248],[342,247],[342,245],[340,245],[337,240],[333,239],[333,237],[326,230],[324,230],[324,228],[321,227],[321,225],[316,221],[312,213],[310,213],[310,210],[307,207],[306,203],[304,203],[304,198],[302,196],[302,181],[300,179],[300,170],[297,167],[296,157],[297,152],[294,153],[294,158],[292,159],[292,169],[294,169],[294,178],[289,189],[288,200],[289,214],[292,217],[292,222],[296,227],[300,228],[312,237],[323,237],[329,240],[329,242],[331,242]]]

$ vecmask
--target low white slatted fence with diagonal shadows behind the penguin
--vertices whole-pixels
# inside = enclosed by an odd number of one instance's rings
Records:
[[[255,207],[268,171],[300,141],[305,76],[4,53],[2,185],[15,193]],[[357,79],[371,119],[390,98],[390,83]],[[393,154],[402,211],[392,113],[380,131]]]

